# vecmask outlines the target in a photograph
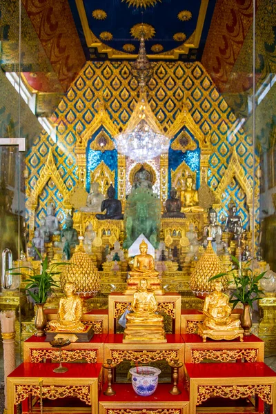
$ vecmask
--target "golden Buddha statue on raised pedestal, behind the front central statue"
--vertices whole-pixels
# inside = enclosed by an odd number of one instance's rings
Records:
[[[140,254],[135,256],[130,278],[127,280],[128,288],[125,295],[132,295],[137,290],[140,280],[146,279],[148,288],[154,291],[155,295],[163,295],[164,290],[160,286],[159,272],[155,270],[155,259],[148,255],[148,244],[143,240],[139,246]]]

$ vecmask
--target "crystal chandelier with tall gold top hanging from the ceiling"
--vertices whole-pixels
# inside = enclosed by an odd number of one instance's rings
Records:
[[[139,54],[132,66],[132,75],[139,81],[139,101],[126,128],[116,137],[118,152],[138,162],[149,161],[168,152],[170,145],[170,139],[159,129],[146,97],[146,82],[151,73],[142,33]]]

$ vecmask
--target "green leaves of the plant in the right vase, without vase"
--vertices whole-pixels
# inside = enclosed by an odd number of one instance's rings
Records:
[[[239,302],[242,304],[249,304],[253,308],[253,302],[255,300],[262,299],[264,291],[259,288],[259,280],[264,277],[266,272],[255,274],[252,268],[250,267],[251,260],[246,262],[242,266],[236,257],[231,256],[233,263],[237,266],[237,270],[229,270],[226,273],[219,273],[213,277],[210,277],[210,282],[219,277],[230,275],[232,276],[228,280],[228,284],[235,284],[235,288],[230,294],[230,302],[233,303],[233,308],[237,306]]]

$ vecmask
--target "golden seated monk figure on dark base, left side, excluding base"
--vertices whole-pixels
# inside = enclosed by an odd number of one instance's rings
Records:
[[[59,319],[49,322],[51,331],[82,332],[86,330],[86,326],[80,322],[83,314],[81,298],[75,295],[75,291],[75,284],[66,283],[64,286],[66,297],[59,301],[59,311],[57,313]]]

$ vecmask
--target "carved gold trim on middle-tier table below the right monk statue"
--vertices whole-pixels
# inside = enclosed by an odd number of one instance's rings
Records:
[[[191,354],[193,364],[204,359],[230,362],[244,358],[247,362],[257,362],[257,349],[191,349]]]

